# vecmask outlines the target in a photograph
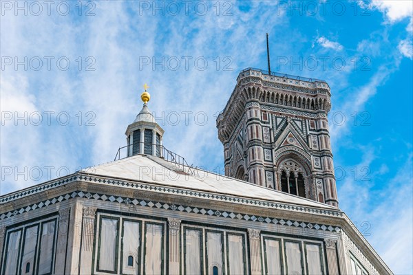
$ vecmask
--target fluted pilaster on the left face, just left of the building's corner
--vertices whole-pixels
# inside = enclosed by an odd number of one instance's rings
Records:
[[[69,226],[70,208],[65,208],[59,211],[59,229],[57,232],[56,245],[56,268],[54,274],[65,274],[65,259],[67,232]]]

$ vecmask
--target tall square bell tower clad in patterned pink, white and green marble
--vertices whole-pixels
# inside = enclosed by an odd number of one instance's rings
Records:
[[[217,118],[225,175],[338,206],[324,80],[248,68]]]

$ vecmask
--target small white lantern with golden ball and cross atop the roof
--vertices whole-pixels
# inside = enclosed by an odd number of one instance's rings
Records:
[[[160,157],[164,130],[156,123],[151,111],[149,111],[147,104],[151,99],[151,95],[147,91],[149,87],[146,84],[143,87],[145,91],[140,96],[143,101],[142,110],[134,122],[127,126],[125,133],[128,144],[127,156],[145,154]]]

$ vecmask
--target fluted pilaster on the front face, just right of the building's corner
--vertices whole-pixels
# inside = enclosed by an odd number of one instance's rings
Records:
[[[83,227],[82,227],[82,251],[81,267],[79,274],[90,274],[92,270],[93,241],[94,241],[94,220],[96,208],[83,208]]]

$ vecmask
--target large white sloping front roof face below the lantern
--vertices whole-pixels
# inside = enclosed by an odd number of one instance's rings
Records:
[[[146,181],[162,186],[213,192],[221,195],[277,201],[299,206],[324,208],[326,210],[339,210],[325,203],[319,203],[205,170],[189,168],[187,166],[184,168],[180,166],[180,168],[178,168],[178,166],[164,159],[153,156],[135,155],[115,162],[87,168],[82,170],[82,172],[106,177]]]

